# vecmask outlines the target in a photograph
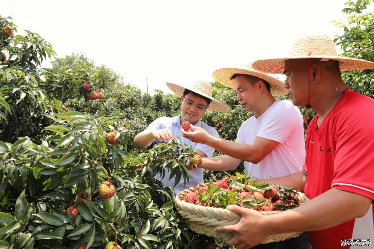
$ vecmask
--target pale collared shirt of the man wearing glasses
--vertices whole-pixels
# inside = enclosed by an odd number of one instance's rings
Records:
[[[180,137],[181,143],[188,144],[188,146],[192,145],[192,148],[194,150],[199,149],[202,152],[204,152],[207,157],[211,157],[214,153],[214,149],[212,147],[210,147],[206,144],[194,143],[191,140],[183,137],[183,135],[181,133],[182,126],[181,126],[181,123],[180,123],[180,118],[181,118],[180,115],[172,117],[172,118],[169,118],[169,117],[157,118],[156,120],[154,120],[148,126],[147,129],[145,129],[145,131],[161,130],[161,129],[164,129],[164,128],[169,128],[169,130],[173,134],[174,138],[177,138],[177,136]],[[213,127],[210,127],[209,125],[201,122],[200,120],[197,121],[196,124],[194,124],[194,126],[203,128],[213,137],[218,137],[218,132]],[[157,141],[157,139],[153,139],[148,145],[150,145],[154,141]],[[190,187],[195,187],[199,183],[203,184],[204,183],[203,171],[204,171],[203,168],[198,168],[197,170],[188,171],[188,174],[189,174],[189,177],[190,177],[188,183],[186,182],[186,185],[185,185],[184,181],[183,181],[183,177],[182,177],[181,181],[177,184],[177,186],[174,187],[174,194],[178,194],[181,191],[183,191],[185,189],[188,189]],[[156,179],[160,180],[163,185],[173,186],[175,176],[172,177],[170,180],[168,180],[169,179],[168,173],[170,171],[169,171],[169,169],[165,169],[165,172],[166,172],[166,175],[165,175],[164,178],[161,178],[160,175],[156,175]]]

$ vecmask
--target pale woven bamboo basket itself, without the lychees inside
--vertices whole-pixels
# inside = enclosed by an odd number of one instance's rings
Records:
[[[276,190],[281,189],[280,185],[270,184]],[[199,184],[197,187],[191,187],[186,189],[179,194],[175,198],[175,206],[177,211],[183,217],[183,219],[188,224],[188,227],[199,234],[205,234],[210,237],[214,237],[216,239],[224,239],[229,240],[231,239],[234,234],[233,233],[217,233],[214,231],[215,227],[221,227],[224,225],[234,225],[240,220],[240,215],[236,214],[228,209],[224,208],[212,208],[208,206],[200,206],[195,205],[193,203],[187,203],[184,201],[184,196],[186,196],[189,192],[195,192],[197,188],[208,186],[207,184]],[[300,200],[300,204],[309,201],[310,199],[303,193],[297,192],[297,196]],[[270,211],[264,212],[260,211],[263,215],[272,215],[282,211]],[[278,242],[285,239],[290,239],[299,236],[302,233],[300,232],[293,232],[293,233],[282,233],[268,236],[262,244],[270,243],[270,242]]]

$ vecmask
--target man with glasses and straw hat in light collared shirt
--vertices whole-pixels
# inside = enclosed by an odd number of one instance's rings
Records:
[[[181,133],[181,125],[188,121],[196,127],[204,130],[209,136],[218,137],[217,131],[209,125],[200,121],[206,109],[212,111],[226,112],[229,107],[212,98],[212,84],[202,81],[194,81],[192,84],[183,87],[181,85],[166,83],[168,87],[178,96],[181,96],[181,114],[172,118],[160,117],[154,120],[144,131],[137,134],[134,144],[138,147],[150,145],[153,141],[166,142],[172,138],[180,137],[181,142],[192,145],[194,152],[202,158],[211,157],[214,148],[203,143],[194,143],[188,138],[184,138]],[[166,169],[166,176],[156,175],[156,178],[165,186],[174,186],[175,176],[169,180],[170,171]],[[174,193],[178,194],[184,189],[195,187],[199,183],[203,184],[203,168],[189,171],[188,183],[181,180],[175,187]]]

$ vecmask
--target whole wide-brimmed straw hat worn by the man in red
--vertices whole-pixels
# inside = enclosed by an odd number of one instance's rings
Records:
[[[321,34],[299,37],[292,42],[287,56],[278,59],[256,60],[252,66],[261,72],[282,74],[285,60],[307,58],[321,58],[321,61],[337,60],[341,71],[374,68],[374,62],[338,56],[334,40]]]

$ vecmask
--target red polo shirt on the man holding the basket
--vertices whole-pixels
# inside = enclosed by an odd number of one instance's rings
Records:
[[[313,199],[336,188],[374,200],[374,99],[348,88],[320,127],[317,119],[307,131],[305,194]],[[341,248],[345,239],[371,239],[373,246],[373,212],[372,204],[364,217],[308,232],[313,249]]]

